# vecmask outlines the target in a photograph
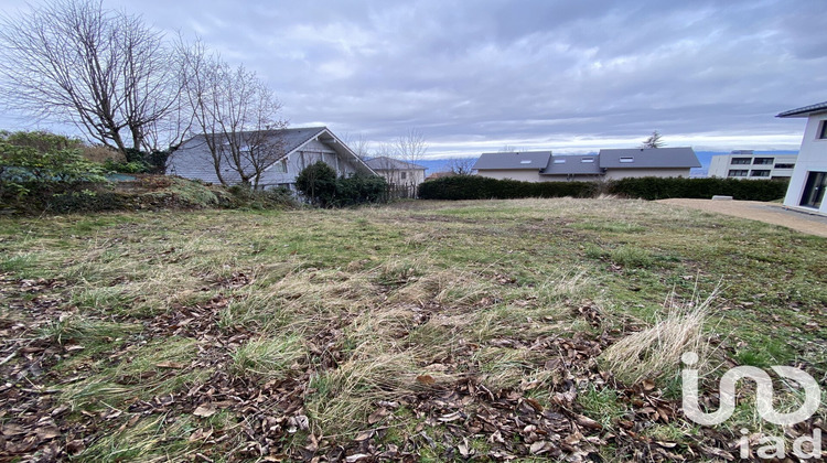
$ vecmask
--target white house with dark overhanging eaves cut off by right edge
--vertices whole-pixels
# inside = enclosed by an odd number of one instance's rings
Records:
[[[823,201],[827,190],[827,101],[791,109],[777,117],[807,118],[784,205],[827,214],[827,203]]]

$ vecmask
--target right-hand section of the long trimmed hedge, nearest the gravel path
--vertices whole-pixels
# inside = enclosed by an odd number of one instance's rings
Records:
[[[640,177],[611,182],[609,192],[643,200],[687,197],[709,200],[715,195],[743,201],[775,201],[784,197],[788,180]]]

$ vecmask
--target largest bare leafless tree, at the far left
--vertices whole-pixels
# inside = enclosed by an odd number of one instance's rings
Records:
[[[0,93],[12,107],[73,122],[121,152],[170,141],[164,126],[179,96],[172,55],[140,18],[99,0],[53,0],[1,18],[0,45]]]

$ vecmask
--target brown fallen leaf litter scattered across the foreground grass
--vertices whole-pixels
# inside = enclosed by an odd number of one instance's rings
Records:
[[[259,333],[255,326],[219,323],[234,298],[225,292],[253,281],[244,272],[214,280],[207,287],[218,291],[214,297],[196,304],[174,303],[164,313],[139,320],[143,331],[127,341],[146,343],[173,336],[195,340],[197,355],[193,359],[158,362],[150,374],[208,372],[205,380],[153,397],[128,398],[122,408],[108,406],[101,398],[106,405],[103,410],[87,410],[60,400],[61,386],[82,380],[83,372],[66,376],[51,369],[85,346],[72,338],[35,335],[51,321],[73,312],[65,284],[3,276],[0,291],[18,317],[0,320],[0,374],[7,378],[0,385],[0,462],[49,462],[84,455],[103,434],[126,432],[147,417],[160,417],[165,423],[191,417],[193,431],[185,438],[184,455],[205,462],[412,462],[425,453],[444,461],[536,456],[584,462],[602,461],[601,449],[606,446],[632,461],[737,457],[732,435],[713,429],[702,429],[699,435],[680,442],[647,435],[646,429],[653,426],[683,419],[679,402],[665,398],[651,379],[626,387],[601,368],[598,357],[623,333],[606,330],[603,313],[588,301],[573,304],[571,313],[591,330],[535,338],[515,333],[460,343],[438,363],[421,365],[427,373],[411,372],[411,387],[402,394],[388,394],[369,402],[368,409],[362,410],[365,418],[357,423],[357,432],[325,435],[308,409],[309,398],[318,392],[311,385],[320,373],[335,372],[347,360],[347,334],[342,326],[353,315],[340,314],[327,325],[305,333],[303,344],[309,357],[290,365],[283,376],[268,379],[234,374],[234,352]],[[516,284],[514,278],[500,273],[495,282]],[[492,300],[485,295],[477,304],[488,306]],[[430,302],[409,308],[411,324],[398,335],[451,320],[451,310]],[[529,353],[545,360],[533,372],[525,372],[515,387],[491,387],[473,360],[473,354],[485,347]],[[120,362],[118,355],[109,358]],[[626,412],[609,427],[588,417],[578,400],[588,387],[616,390]],[[217,423],[221,416],[230,417],[228,426]],[[815,427],[821,427],[820,421],[805,423],[796,432],[804,434]]]

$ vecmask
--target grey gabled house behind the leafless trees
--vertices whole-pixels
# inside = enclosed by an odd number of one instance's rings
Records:
[[[253,133],[261,134],[261,132],[241,132],[239,137],[245,139],[246,136]],[[259,189],[284,186],[294,190],[296,176],[299,172],[316,161],[326,162],[339,175],[356,172],[376,174],[326,127],[270,130],[265,134],[273,140],[279,152],[272,157],[272,163],[261,174]],[[167,174],[219,183],[206,137],[216,136],[193,137],[173,151],[167,163]],[[222,177],[226,182],[230,184],[239,182],[237,172],[234,172],[229,164],[225,162],[219,168]]]

